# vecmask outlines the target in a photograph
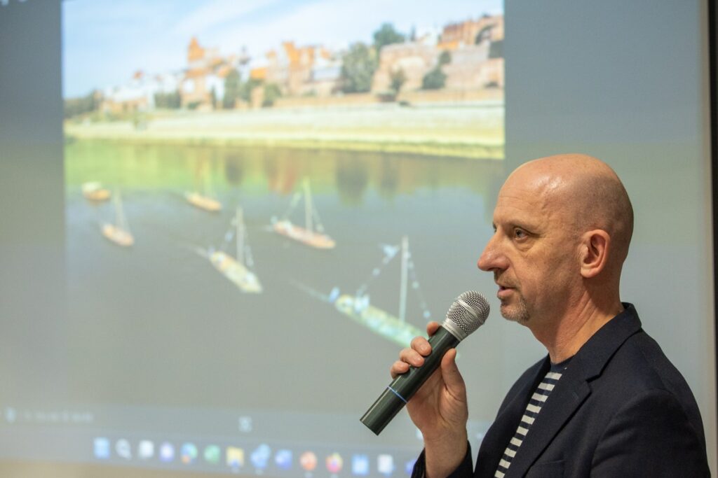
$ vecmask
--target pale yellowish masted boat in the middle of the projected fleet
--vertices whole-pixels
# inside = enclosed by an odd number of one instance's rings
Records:
[[[240,207],[237,208],[232,224],[235,229],[233,234],[236,239],[236,257],[232,257],[230,254],[221,250],[215,251],[211,249],[207,257],[215,269],[233,282],[242,292],[258,294],[262,292],[262,285],[256,274],[251,272],[246,265],[246,262],[250,262],[251,259],[250,261],[246,259],[248,255],[244,242],[246,228],[244,226],[243,212]],[[227,234],[228,237],[230,235],[231,232]]]

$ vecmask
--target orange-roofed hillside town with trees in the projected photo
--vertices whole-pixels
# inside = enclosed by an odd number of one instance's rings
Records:
[[[193,37],[180,70],[137,71],[122,85],[66,99],[65,114],[462,102],[488,91],[503,97],[503,37],[503,16],[489,15],[421,34],[383,24],[373,44],[345,49],[286,41],[258,57],[244,47],[223,54]]]

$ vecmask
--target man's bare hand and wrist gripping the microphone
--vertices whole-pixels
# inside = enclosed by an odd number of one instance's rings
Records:
[[[426,332],[431,336],[438,328],[438,322],[429,322]],[[399,360],[391,365],[391,377],[406,373],[409,365],[421,367],[424,357],[431,351],[428,340],[414,338],[411,348],[401,350]],[[429,478],[442,478],[453,472],[467,451],[466,386],[455,359],[456,349],[449,350],[442,358],[441,366],[406,404],[411,420],[424,436],[426,476]]]

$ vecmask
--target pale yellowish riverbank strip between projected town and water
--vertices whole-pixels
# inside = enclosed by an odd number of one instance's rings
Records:
[[[70,139],[411,153],[503,159],[503,101],[239,111],[163,111],[134,121],[65,123]]]

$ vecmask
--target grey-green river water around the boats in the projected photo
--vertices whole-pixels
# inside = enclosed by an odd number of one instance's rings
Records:
[[[65,148],[65,175],[68,336],[73,389],[81,396],[169,404],[206,403],[211,397],[214,406],[236,407],[241,400],[247,407],[354,411],[365,403],[335,400],[326,381],[307,371],[326,371],[327,356],[355,357],[366,350],[373,354],[368,361],[376,360],[367,366],[380,369],[397,345],[342,313],[338,297],[356,297],[360,289],[361,300],[351,309],[356,317],[379,310],[406,316],[407,328],[423,330],[427,314],[442,315],[457,292],[481,290],[474,264],[491,234],[490,196],[503,164],[75,141]],[[305,207],[304,193],[292,212],[305,179],[311,207]],[[81,188],[88,181],[121,189],[134,245],[121,249],[102,236],[99,219],[115,217],[115,206],[88,204]],[[213,194],[221,209],[208,212],[198,206],[208,205],[201,200],[188,204],[185,193],[195,189]],[[310,247],[292,234],[278,234],[271,219],[287,211],[296,226],[307,228],[309,219],[320,231],[323,224],[335,247]],[[406,241],[410,252],[395,252]],[[234,279],[240,272],[249,277],[240,266],[261,278],[261,293],[238,289]],[[363,288],[367,277],[371,285]],[[492,282],[490,274],[481,277]],[[406,310],[399,306],[402,283],[410,288]],[[307,350],[317,343],[314,330],[331,340]],[[267,354],[267,343],[299,359],[261,360],[262,373],[273,381],[247,387],[234,380],[256,375],[256,358]],[[153,350],[141,365],[138,344]],[[152,373],[162,364],[182,370],[183,380]],[[345,370],[340,363],[332,366],[336,373]],[[297,381],[300,376],[307,379]],[[358,378],[364,380],[370,378]],[[294,383],[291,396],[276,393],[276,383]],[[270,404],[267,397],[273,397]]]

